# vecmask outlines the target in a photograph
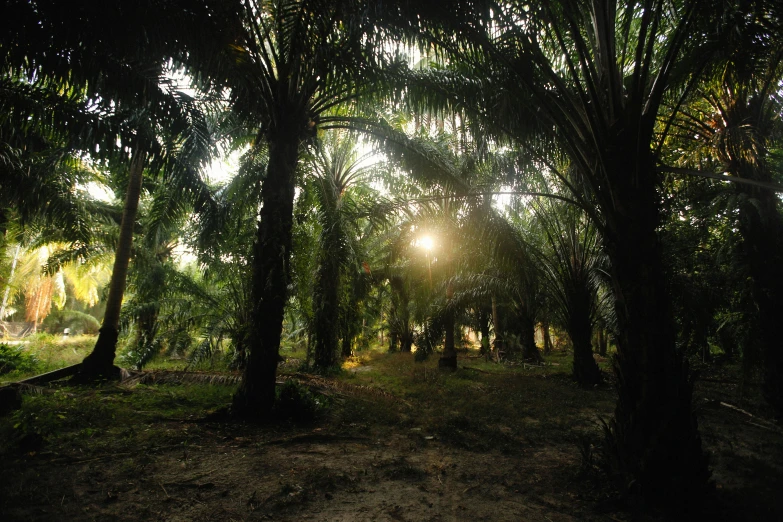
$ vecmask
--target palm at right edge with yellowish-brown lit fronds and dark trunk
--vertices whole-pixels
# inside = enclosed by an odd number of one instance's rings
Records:
[[[758,309],[758,334],[764,366],[764,396],[783,415],[783,349],[779,320],[783,314],[783,219],[779,198],[764,188],[775,177],[770,149],[783,122],[783,49],[774,11],[727,13],[737,30],[726,42],[727,63],[701,86],[698,98],[677,122],[680,144],[692,149],[685,166],[701,162],[744,183],[731,187],[741,237],[741,258],[750,276]],[[749,183],[748,183],[749,182]],[[751,184],[755,183],[755,184]]]

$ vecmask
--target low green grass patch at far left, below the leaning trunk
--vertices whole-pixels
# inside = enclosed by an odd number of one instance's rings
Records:
[[[0,454],[53,448],[90,455],[187,444],[190,434],[183,423],[225,406],[233,391],[230,386],[182,384],[27,393],[21,410],[0,418]]]

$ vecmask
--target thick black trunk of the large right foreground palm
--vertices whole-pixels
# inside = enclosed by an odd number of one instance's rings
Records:
[[[653,161],[640,150],[625,143],[610,151],[613,200],[602,208],[618,326],[618,402],[607,442],[613,467],[633,477],[636,493],[682,508],[703,498],[710,472],[693,415],[693,382],[675,347]]]

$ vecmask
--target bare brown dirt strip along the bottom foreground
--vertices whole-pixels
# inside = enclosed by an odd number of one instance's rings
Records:
[[[552,491],[552,470],[573,471],[574,452],[473,453],[418,431],[231,437],[222,426],[181,429],[203,433],[143,454],[29,459],[10,485],[15,506],[6,520],[611,519]]]

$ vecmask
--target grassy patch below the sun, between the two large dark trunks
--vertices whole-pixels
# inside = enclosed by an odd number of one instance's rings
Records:
[[[570,377],[570,357],[555,353],[546,365],[498,364],[470,351],[454,372],[438,369],[437,354],[369,353],[338,378],[368,392],[346,401],[345,422],[401,425],[411,433],[475,451],[515,452],[545,443],[570,443],[576,434],[598,438],[598,415],[610,416],[614,392],[581,390]],[[370,390],[381,390],[373,395]]]

